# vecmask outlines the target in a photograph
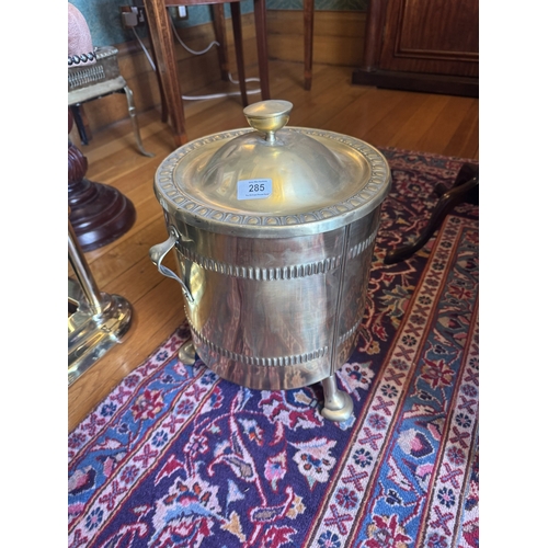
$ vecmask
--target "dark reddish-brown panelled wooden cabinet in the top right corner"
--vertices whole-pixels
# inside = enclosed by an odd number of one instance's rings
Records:
[[[353,83],[478,96],[479,0],[370,0]]]

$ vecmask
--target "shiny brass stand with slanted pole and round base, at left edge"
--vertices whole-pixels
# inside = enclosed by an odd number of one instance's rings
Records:
[[[112,346],[132,324],[132,305],[118,295],[98,289],[69,221],[68,255],[77,281],[68,283],[68,386]]]

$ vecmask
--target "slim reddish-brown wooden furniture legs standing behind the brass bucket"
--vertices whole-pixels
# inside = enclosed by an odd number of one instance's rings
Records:
[[[238,80],[243,106],[248,105],[246,90],[246,73],[243,62],[243,44],[241,28],[241,0],[142,0],[147,14],[147,24],[150,43],[156,58],[157,76],[162,96],[162,119],[171,118],[175,146],[180,147],[189,141],[185,130],[184,109],[179,85],[176,58],[173,46],[173,36],[167,5],[214,5],[214,25],[218,49],[221,78],[228,80],[228,57],[225,39],[224,4],[230,3],[232,31],[235,35],[236,61]],[[312,35],[313,35],[313,0],[304,0],[305,25],[305,89],[310,90],[312,81]],[[259,78],[261,81],[261,98],[263,101],[271,98],[269,84],[269,54],[266,46],[266,1],[253,0],[256,49],[259,59]]]

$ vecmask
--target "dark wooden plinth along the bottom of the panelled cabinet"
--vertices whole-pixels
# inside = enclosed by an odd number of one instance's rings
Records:
[[[357,69],[352,73],[352,83],[392,90],[479,96],[479,78],[472,77]]]

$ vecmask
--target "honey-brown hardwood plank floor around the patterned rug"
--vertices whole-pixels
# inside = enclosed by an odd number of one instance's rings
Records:
[[[375,147],[479,159],[477,99],[352,85],[350,67],[315,65],[311,91],[302,89],[299,62],[271,61],[270,78],[273,99],[294,104],[289,125],[339,132]],[[220,90],[225,83],[218,85]],[[250,83],[250,89],[253,85]],[[251,101],[259,98],[250,95]],[[191,140],[247,126],[239,96],[185,101],[184,106]],[[75,145],[88,159],[87,178],[122,191],[135,205],[137,220],[115,242],[85,254],[100,290],[129,300],[134,320],[122,344],[69,388],[69,431],[184,319],[179,284],[160,275],[148,255],[151,246],[167,239],[162,209],[152,185],[155,172],[174,149],[174,141],[158,110],[139,113],[138,119],[145,148],[155,158],[137,151],[129,119],[95,133],[85,147],[71,133]],[[167,264],[173,269],[170,260]]]

